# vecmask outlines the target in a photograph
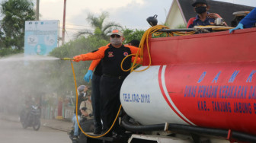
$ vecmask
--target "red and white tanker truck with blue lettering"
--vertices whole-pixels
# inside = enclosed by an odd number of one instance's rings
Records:
[[[255,37],[256,28],[148,37],[120,91],[124,142],[256,142]]]

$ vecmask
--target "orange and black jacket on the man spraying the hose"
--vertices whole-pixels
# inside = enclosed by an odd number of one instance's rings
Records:
[[[103,75],[111,75],[111,76],[126,76],[129,74],[129,71],[123,71],[120,67],[121,62],[123,59],[130,55],[130,54],[136,54],[136,52],[139,49],[135,46],[121,46],[120,48],[115,48],[114,46],[107,45],[102,46],[101,48],[93,51],[88,52],[86,54],[80,55],[80,59],[82,61],[86,60],[94,60],[92,62],[92,65],[90,66],[89,70],[93,70],[96,65],[98,65],[98,62],[100,62],[101,59],[101,65],[102,65],[102,74]],[[99,60],[95,60],[99,59]],[[123,69],[130,68],[132,62],[132,57],[128,57],[123,62]],[[93,64],[94,63],[94,64]]]

